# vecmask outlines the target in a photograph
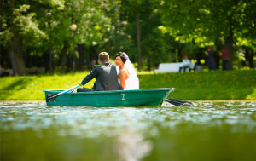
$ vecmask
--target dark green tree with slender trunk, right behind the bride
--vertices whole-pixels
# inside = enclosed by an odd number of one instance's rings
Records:
[[[145,64],[150,70],[151,66],[155,66],[160,60],[166,60],[170,54],[170,37],[160,35],[160,14],[154,3],[154,0],[122,1],[121,15],[127,21],[125,32],[131,35],[133,47],[136,47],[133,52],[136,53],[138,70],[143,69]]]

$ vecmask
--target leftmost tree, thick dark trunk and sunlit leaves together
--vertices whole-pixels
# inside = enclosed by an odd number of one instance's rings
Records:
[[[1,43],[8,49],[15,75],[26,75],[26,66],[22,55],[24,46],[29,46],[37,41],[40,42],[40,39],[46,37],[46,34],[38,28],[38,20],[36,19],[37,12],[40,13],[42,9],[32,8],[30,5],[32,3],[39,3],[40,7],[62,5],[61,0],[1,1]]]

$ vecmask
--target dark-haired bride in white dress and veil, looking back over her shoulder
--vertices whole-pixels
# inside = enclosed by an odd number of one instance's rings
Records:
[[[115,65],[118,72],[118,81],[124,90],[139,89],[137,73],[129,60],[128,55],[119,52],[115,55]]]

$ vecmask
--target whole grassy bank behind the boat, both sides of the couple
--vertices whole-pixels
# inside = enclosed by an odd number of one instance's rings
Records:
[[[0,101],[43,100],[45,89],[69,89],[89,71],[65,75],[39,75],[0,78]],[[216,72],[138,72],[140,89],[175,88],[168,98],[180,100],[256,100],[256,71]],[[85,87],[91,88],[94,79]]]

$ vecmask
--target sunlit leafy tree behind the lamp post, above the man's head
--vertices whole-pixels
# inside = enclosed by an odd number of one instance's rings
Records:
[[[67,0],[63,10],[52,11],[53,23],[56,24],[56,26],[52,26],[54,32],[52,38],[55,42],[54,55],[61,57],[61,68],[67,65],[65,64],[65,60],[67,60],[65,57],[73,51],[73,47],[69,45],[72,43],[70,41],[72,35],[68,30],[71,24],[78,26],[74,35],[75,43],[79,44],[79,49],[82,46],[84,46],[83,49],[87,49],[85,54],[89,53],[87,57],[90,57],[90,60],[96,60],[97,54],[102,50],[108,52],[114,50],[114,38],[124,33],[122,30],[119,30],[121,22],[117,20],[118,9],[119,1],[114,0]],[[117,43],[119,42],[121,41],[117,41]],[[77,55],[77,58],[79,58],[79,55]]]

